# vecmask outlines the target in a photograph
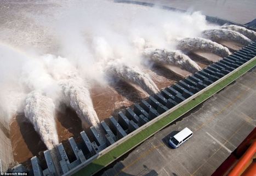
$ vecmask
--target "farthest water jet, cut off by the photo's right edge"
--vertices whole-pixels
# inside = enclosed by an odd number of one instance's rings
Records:
[[[248,30],[245,27],[237,26],[237,25],[228,25],[228,26],[222,26],[221,28],[239,32],[244,36],[248,37],[249,39],[256,41],[256,32],[252,30]]]

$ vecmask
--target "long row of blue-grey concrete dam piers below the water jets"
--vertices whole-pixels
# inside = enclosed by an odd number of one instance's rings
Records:
[[[108,122],[101,121],[100,125],[104,130],[104,134],[97,131],[95,127],[90,127],[90,133],[94,138],[93,141],[88,138],[87,133],[84,131],[81,132],[81,143],[76,143],[73,137],[69,138],[72,152],[75,155],[74,161],[70,161],[64,146],[60,143],[56,146],[56,152],[59,157],[58,163],[54,162],[50,151],[46,150],[44,151],[44,157],[47,167],[43,167],[37,156],[34,156],[31,159],[32,170],[27,172],[30,172],[31,175],[69,175],[71,169],[92,162],[92,158],[97,156],[100,151],[115,144],[118,140],[175,105],[185,101],[186,98],[213,84],[255,56],[256,43],[254,42],[224,57],[219,62],[215,62],[201,71],[180,80],[178,83],[166,87],[159,93],[151,95],[140,103],[134,104],[133,108],[127,108],[124,113],[119,112],[118,119],[111,116]],[[60,171],[57,170],[58,168]],[[26,169],[22,165],[18,165],[12,171],[26,171]]]

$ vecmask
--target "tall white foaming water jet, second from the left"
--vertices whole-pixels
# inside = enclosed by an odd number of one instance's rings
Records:
[[[83,127],[97,126],[99,118],[93,108],[89,87],[76,68],[66,58],[47,55],[44,57],[49,72],[58,81],[65,96],[65,103],[70,105],[82,121]]]

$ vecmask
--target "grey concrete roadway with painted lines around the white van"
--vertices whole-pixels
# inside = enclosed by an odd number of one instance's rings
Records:
[[[103,175],[211,175],[256,126],[256,69],[214,95],[182,120],[157,132]],[[194,136],[167,145],[189,127]]]

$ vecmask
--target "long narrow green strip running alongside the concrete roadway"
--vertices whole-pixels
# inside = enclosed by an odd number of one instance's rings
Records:
[[[178,119],[181,115],[188,112],[192,108],[195,108],[198,104],[206,101],[209,97],[223,89],[225,86],[229,85],[237,78],[239,78],[242,74],[248,72],[256,65],[256,60],[252,61],[251,63],[243,66],[238,71],[231,74],[226,79],[220,81],[220,83],[214,85],[209,90],[201,93],[196,98],[192,99],[191,101],[187,102],[186,104],[182,105],[178,109],[175,109],[173,112],[168,114],[167,116],[163,117],[162,119],[156,121],[154,124],[146,127],[141,132],[135,134],[133,137],[130,137],[125,142],[121,143],[120,145],[113,148],[111,151],[107,152],[105,155],[99,157],[98,159],[94,160],[88,166],[84,167],[74,175],[92,175],[98,172],[100,169],[103,169],[105,166],[109,165],[111,162],[116,160],[118,157],[125,154],[127,151],[134,148],[134,146],[140,144],[148,137],[152,136],[157,131],[161,130],[164,126],[170,124],[170,122]]]

